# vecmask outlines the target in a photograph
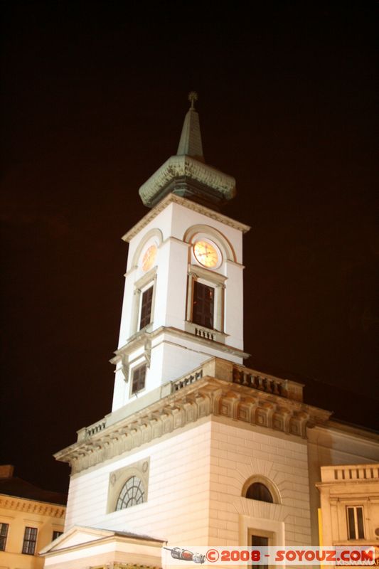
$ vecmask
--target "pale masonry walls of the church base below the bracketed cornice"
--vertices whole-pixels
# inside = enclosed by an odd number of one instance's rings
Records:
[[[107,514],[114,469],[149,459],[144,504]],[[278,504],[242,497],[250,477],[277,487]],[[207,417],[116,461],[75,475],[66,530],[92,526],[163,538],[171,546],[248,545],[249,532],[274,522],[275,543],[311,543],[306,441],[233,420]],[[272,530],[271,530],[272,531]]]

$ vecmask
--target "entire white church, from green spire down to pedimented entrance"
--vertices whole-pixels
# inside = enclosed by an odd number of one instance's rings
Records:
[[[163,543],[317,543],[309,474],[330,414],[242,364],[249,227],[220,213],[235,180],[205,164],[190,100],[177,154],[139,189],[150,209],[124,235],[112,412],[55,455],[71,477],[65,533],[42,552],[52,569],[161,567]]]

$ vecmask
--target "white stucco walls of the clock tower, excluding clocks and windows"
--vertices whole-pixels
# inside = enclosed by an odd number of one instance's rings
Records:
[[[114,358],[112,411],[134,400],[128,375],[146,361],[146,350],[149,366],[139,398],[185,375],[210,356],[242,363],[242,235],[246,230],[246,225],[171,194],[127,234],[129,255],[118,357]],[[220,262],[216,267],[206,269],[196,260],[193,243],[199,239],[217,246]],[[154,265],[145,271],[144,255],[152,245],[156,247]],[[195,329],[191,323],[193,278],[215,289],[212,330]],[[153,287],[151,321],[142,337],[142,294],[149,287]]]

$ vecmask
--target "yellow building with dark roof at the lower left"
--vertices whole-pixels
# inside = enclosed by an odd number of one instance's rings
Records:
[[[66,496],[42,490],[0,467],[0,567],[38,569],[38,552],[57,539],[65,521]]]

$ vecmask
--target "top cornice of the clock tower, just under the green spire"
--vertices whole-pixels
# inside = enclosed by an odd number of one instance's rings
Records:
[[[203,216],[208,218],[214,219],[220,223],[224,223],[233,229],[237,229],[242,231],[242,233],[247,233],[251,228],[249,225],[245,225],[245,223],[240,223],[232,218],[228,218],[228,216],[224,216],[222,213],[218,213],[218,211],[213,211],[210,208],[206,208],[205,206],[201,206],[200,203],[196,203],[195,201],[187,200],[186,198],[181,198],[181,196],[176,196],[174,193],[169,193],[166,198],[161,200],[154,208],[152,208],[149,213],[146,213],[141,220],[139,220],[132,229],[129,229],[125,235],[123,235],[122,240],[129,241],[132,240],[151,220],[156,218],[156,216],[164,211],[164,209],[169,206],[170,203],[178,203],[179,206],[183,206],[184,208],[190,209],[192,211],[196,211],[196,213],[201,213]]]

